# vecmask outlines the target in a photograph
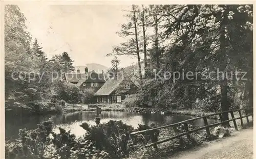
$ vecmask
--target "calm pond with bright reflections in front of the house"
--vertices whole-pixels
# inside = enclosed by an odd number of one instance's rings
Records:
[[[101,117],[101,123],[108,122],[109,120],[122,120],[124,123],[132,125],[133,127],[138,127],[138,124],[148,124],[155,123],[157,126],[162,126],[166,124],[172,124],[180,122],[183,120],[195,118],[193,116],[187,115],[177,115],[177,114],[140,114],[135,112],[101,112],[99,115]],[[86,130],[84,130],[79,125],[82,122],[88,122],[89,124],[95,125],[95,117],[97,117],[96,112],[75,112],[66,113],[61,115],[44,115],[44,116],[29,116],[20,117],[13,115],[6,115],[5,117],[5,138],[6,140],[15,140],[18,138],[18,130],[20,128],[35,129],[37,124],[52,118],[54,122],[54,131],[59,132],[58,127],[61,126],[66,130],[70,130],[76,136],[83,135]],[[218,120],[208,119],[208,124],[216,123]],[[204,126],[203,119],[195,120],[191,124]]]

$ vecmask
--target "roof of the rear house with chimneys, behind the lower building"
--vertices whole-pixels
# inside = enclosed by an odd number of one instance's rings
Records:
[[[102,73],[90,71],[89,73],[65,73],[67,82],[79,82],[80,86],[83,82],[105,82]]]

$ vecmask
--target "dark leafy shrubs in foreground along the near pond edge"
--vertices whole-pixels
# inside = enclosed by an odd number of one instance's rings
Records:
[[[161,136],[159,130],[131,135],[133,131],[153,128],[156,125],[139,124],[139,127],[134,129],[122,121],[110,120],[107,123],[100,123],[100,118],[96,118],[95,123],[95,126],[82,123],[80,126],[86,133],[79,138],[76,138],[71,130],[66,131],[61,127],[58,128],[59,133],[55,133],[52,121],[42,122],[34,130],[20,129],[19,139],[6,143],[6,158],[124,158],[136,154],[143,145],[156,142],[158,138],[175,136],[184,133],[185,130],[181,125],[161,131]],[[189,129],[194,128],[189,125]],[[203,136],[206,139],[205,133]],[[182,137],[175,140],[172,146],[179,149],[197,143],[198,141],[192,137]],[[154,156],[149,154],[145,153],[143,157]]]

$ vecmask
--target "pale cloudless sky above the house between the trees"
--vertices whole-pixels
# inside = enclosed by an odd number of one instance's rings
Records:
[[[49,5],[22,3],[18,5],[27,18],[28,31],[36,38],[47,56],[67,51],[74,65],[98,63],[111,66],[113,57],[106,57],[123,38],[116,32],[126,22],[128,6],[121,5]],[[121,67],[136,62],[134,57],[119,57]]]

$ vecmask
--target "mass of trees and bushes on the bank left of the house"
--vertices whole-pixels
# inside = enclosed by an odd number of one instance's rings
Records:
[[[18,6],[5,6],[6,110],[14,113],[61,112],[62,107],[51,101],[83,102],[86,95],[63,81],[63,73],[73,70],[68,52],[48,59],[37,39],[32,42],[26,17]]]

